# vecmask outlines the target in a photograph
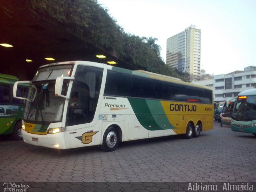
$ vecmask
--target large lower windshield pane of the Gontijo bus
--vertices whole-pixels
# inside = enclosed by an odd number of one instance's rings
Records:
[[[65,98],[55,96],[54,88],[55,81],[30,85],[24,120],[42,124],[62,121]]]

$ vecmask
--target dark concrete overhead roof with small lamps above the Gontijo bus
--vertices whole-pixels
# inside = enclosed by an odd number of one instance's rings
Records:
[[[0,0],[0,25],[0,44],[13,46],[0,46],[0,73],[17,76],[20,80],[31,80],[36,69],[43,64],[69,60],[106,64],[107,61],[116,61],[116,66],[136,69],[116,58],[114,53],[67,32],[57,22],[33,18],[19,1]],[[106,58],[99,59],[97,54]],[[48,57],[55,61],[45,60]],[[32,62],[26,62],[26,59]]]

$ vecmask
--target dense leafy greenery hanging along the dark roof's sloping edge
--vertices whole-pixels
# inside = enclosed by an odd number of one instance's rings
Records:
[[[92,0],[20,0],[34,18],[44,18],[134,68],[148,70],[185,80],[166,66],[160,57],[157,38],[127,34],[108,10]],[[24,6],[21,6],[24,7]]]

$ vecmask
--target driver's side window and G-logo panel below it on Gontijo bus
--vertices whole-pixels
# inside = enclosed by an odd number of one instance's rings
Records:
[[[72,132],[74,134],[67,134],[65,136],[67,148],[89,143],[96,144],[96,140],[97,142],[100,141],[102,121],[96,121],[97,124],[93,124],[93,126],[92,121],[94,118],[98,119],[98,114],[95,113],[99,100],[102,74],[102,68],[82,65],[78,65],[76,68],[66,112],[66,127],[68,130],[74,130]],[[91,135],[93,136],[92,141],[88,142],[85,139],[88,136],[86,132],[95,134],[95,136]]]

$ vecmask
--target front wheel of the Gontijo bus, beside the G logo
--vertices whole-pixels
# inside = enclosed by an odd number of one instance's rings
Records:
[[[119,134],[114,127],[109,127],[104,135],[101,149],[106,152],[114,151],[119,144]]]

